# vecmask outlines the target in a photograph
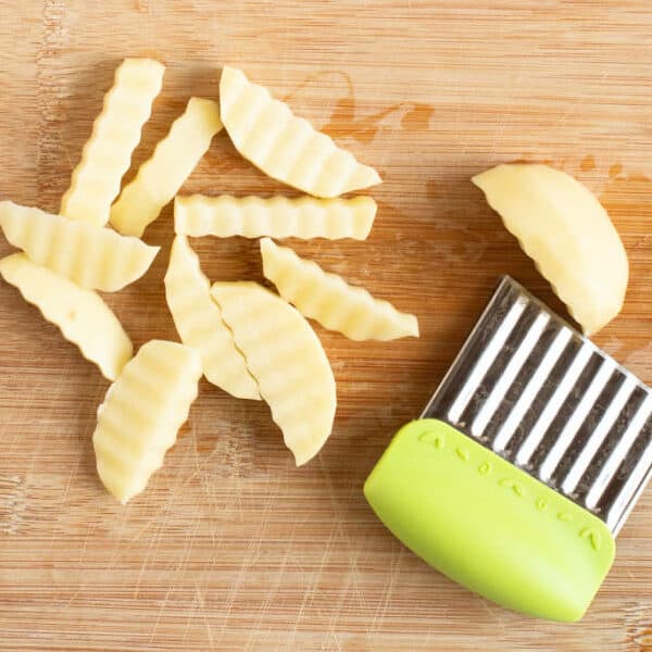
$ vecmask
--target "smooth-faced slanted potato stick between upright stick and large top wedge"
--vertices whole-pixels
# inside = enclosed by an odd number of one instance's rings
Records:
[[[190,98],[184,114],[174,121],[167,136],[111,208],[112,226],[125,236],[142,236],[190,176],[220,129],[217,102]]]

